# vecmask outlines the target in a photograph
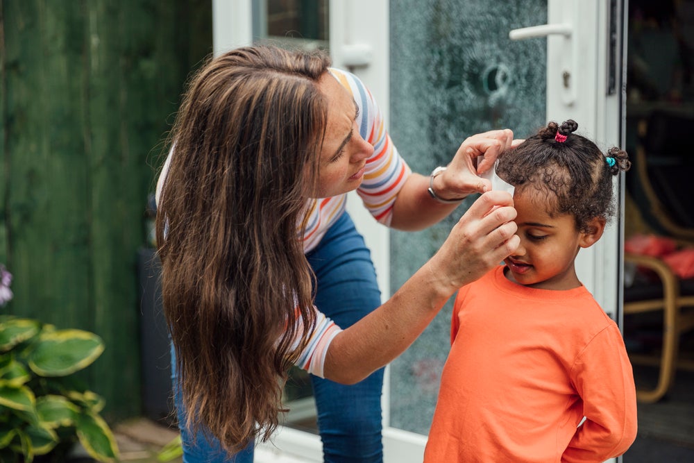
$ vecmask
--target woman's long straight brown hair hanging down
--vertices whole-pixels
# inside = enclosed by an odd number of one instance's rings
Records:
[[[189,83],[171,133],[157,240],[185,426],[205,426],[230,452],[278,426],[294,339],[315,321],[297,225],[328,65],[274,47],[223,54]]]

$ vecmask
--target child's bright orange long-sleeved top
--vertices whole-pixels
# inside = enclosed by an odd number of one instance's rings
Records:
[[[616,323],[583,286],[528,288],[504,269],[458,292],[425,463],[621,455],[636,390]]]

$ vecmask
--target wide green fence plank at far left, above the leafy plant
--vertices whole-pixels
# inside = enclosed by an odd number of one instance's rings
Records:
[[[5,1],[12,311],[90,328],[79,3]]]

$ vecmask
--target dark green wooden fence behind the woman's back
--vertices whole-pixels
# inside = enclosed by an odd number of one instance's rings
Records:
[[[210,0],[0,0],[2,312],[101,335],[85,373],[110,421],[140,413],[144,210]]]

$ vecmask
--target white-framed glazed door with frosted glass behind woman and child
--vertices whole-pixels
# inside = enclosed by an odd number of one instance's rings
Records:
[[[575,119],[579,133],[600,148],[623,146],[625,1],[329,0],[328,42],[334,65],[353,71],[374,94],[400,153],[428,174],[455,153],[452,142],[489,128],[509,127],[523,137],[546,121]],[[269,3],[213,0],[214,52],[251,44],[262,34],[258,24],[262,28]],[[464,98],[470,100],[456,106]],[[616,189],[623,196],[623,186]],[[348,210],[387,298],[436,249],[450,222],[433,231],[393,233],[358,202],[353,195]],[[464,212],[459,209],[452,220]],[[613,221],[577,261],[579,278],[618,323],[622,227],[621,219]],[[387,463],[422,461],[448,348],[450,311],[444,312],[387,369]],[[282,428],[272,446],[302,461],[322,461],[320,439],[310,432]]]

